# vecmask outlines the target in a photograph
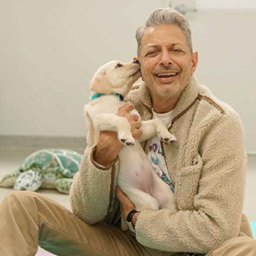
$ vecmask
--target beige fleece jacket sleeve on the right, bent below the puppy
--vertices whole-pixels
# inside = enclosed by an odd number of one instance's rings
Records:
[[[199,137],[198,159],[178,171],[175,200],[183,200],[179,211],[143,210],[138,215],[136,238],[144,246],[207,253],[238,236],[247,162],[241,121],[236,113],[224,114]]]

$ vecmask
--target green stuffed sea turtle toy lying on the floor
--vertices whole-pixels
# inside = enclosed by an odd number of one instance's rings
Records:
[[[81,159],[82,155],[73,150],[41,149],[26,157],[18,170],[6,174],[0,186],[27,191],[54,188],[69,194]]]

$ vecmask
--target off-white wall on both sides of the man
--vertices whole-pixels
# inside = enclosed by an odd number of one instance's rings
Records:
[[[0,0],[0,135],[86,135],[93,73],[136,55],[135,31],[166,0]],[[244,122],[256,151],[256,11],[188,14],[196,75]]]

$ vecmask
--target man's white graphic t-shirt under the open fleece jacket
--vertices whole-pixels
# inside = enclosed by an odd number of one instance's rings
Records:
[[[166,124],[167,127],[171,125],[173,110],[163,114],[156,113],[154,112],[153,109],[152,109],[152,112],[153,112],[153,119],[158,118],[163,120],[163,122]],[[157,135],[151,139],[151,143],[148,151],[148,157],[151,160],[154,168],[156,169],[157,174],[166,183],[168,183],[169,186],[171,186],[172,190],[174,191],[174,187],[172,185],[172,181],[170,179],[170,176],[166,167],[166,162],[163,156],[160,139],[157,137]]]

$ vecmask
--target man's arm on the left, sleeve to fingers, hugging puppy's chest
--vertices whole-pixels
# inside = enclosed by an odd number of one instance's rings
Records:
[[[138,137],[142,132],[139,129],[141,123],[137,121],[137,115],[128,113],[133,108],[126,104],[119,109],[118,115],[128,119],[132,135]],[[119,163],[114,162],[121,147],[116,132],[101,132],[97,145],[93,145],[87,135],[87,148],[70,189],[70,204],[74,214],[88,224],[94,224],[108,214],[113,186],[111,182],[114,180],[113,175],[117,175],[113,173],[112,166],[115,165],[118,172]]]

